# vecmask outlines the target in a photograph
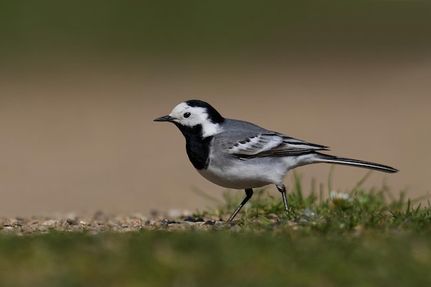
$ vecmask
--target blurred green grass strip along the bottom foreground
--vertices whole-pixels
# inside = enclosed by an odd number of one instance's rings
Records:
[[[429,286],[430,233],[0,237],[2,286]]]

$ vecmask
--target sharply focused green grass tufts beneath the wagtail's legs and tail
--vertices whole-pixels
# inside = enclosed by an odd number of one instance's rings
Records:
[[[249,204],[244,206],[239,214],[242,218],[237,222],[242,227],[270,229],[280,222],[290,222],[316,233],[348,234],[368,229],[431,231],[429,197],[406,199],[406,191],[401,191],[395,197],[385,184],[371,190],[363,189],[361,186],[370,174],[371,171],[366,173],[349,193],[333,193],[324,199],[322,184],[317,191],[315,182],[309,195],[304,196],[302,178],[294,173],[293,188],[288,192],[288,214],[284,211],[281,195],[274,196],[261,189],[255,191]],[[331,177],[330,174],[329,190]],[[196,216],[217,215],[227,218],[243,198],[242,192],[224,193],[226,204]],[[428,202],[423,207],[422,203],[427,198]]]

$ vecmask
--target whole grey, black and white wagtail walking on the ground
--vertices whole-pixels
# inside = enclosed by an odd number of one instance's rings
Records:
[[[290,138],[242,120],[223,118],[202,100],[180,103],[171,114],[154,121],[171,122],[180,129],[186,139],[189,160],[204,178],[222,187],[245,190],[246,198],[228,221],[233,220],[251,198],[253,188],[267,184],[275,184],[282,193],[284,209],[288,212],[283,179],[287,171],[305,164],[327,162],[397,172],[382,164],[319,153],[317,151],[327,151],[328,147]]]

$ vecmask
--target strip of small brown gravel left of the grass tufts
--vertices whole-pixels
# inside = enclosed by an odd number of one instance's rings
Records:
[[[0,234],[41,234],[49,231],[89,231],[90,233],[146,230],[187,230],[213,228],[240,228],[215,217],[194,218],[188,211],[169,211],[166,215],[145,216],[140,213],[133,215],[107,215],[96,212],[91,216],[53,216],[31,218],[1,218]]]

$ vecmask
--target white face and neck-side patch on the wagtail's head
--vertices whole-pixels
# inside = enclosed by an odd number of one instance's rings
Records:
[[[184,116],[186,113],[190,113],[188,118]],[[218,123],[213,123],[209,120],[207,109],[204,107],[191,107],[187,103],[180,103],[174,107],[169,116],[174,118],[176,123],[187,127],[202,125],[202,138],[213,136],[222,131]]]

